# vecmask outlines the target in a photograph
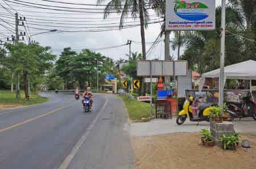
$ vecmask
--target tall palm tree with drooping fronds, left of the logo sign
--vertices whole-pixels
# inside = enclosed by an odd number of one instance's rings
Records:
[[[101,4],[107,0],[97,0],[97,4]],[[121,14],[119,28],[123,28],[123,22],[125,18],[131,15],[132,18],[139,20],[141,23],[141,41],[142,41],[142,54],[143,59],[146,60],[146,41],[145,31],[147,28],[148,15],[148,1],[149,0],[108,0],[108,4],[105,7],[104,19],[108,18],[110,12],[117,12]]]

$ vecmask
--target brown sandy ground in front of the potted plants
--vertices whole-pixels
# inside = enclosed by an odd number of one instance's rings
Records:
[[[256,135],[243,134],[250,149],[224,151],[200,145],[200,133],[133,136],[135,169],[247,169],[256,168]]]

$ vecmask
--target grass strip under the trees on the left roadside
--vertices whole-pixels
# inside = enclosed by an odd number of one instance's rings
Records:
[[[49,99],[39,95],[34,95],[31,92],[30,100],[25,99],[24,91],[20,91],[20,99],[15,98],[15,92],[0,91],[0,105],[15,107],[19,105],[31,105],[47,102]]]

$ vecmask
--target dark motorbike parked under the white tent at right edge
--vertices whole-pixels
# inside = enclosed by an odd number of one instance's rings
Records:
[[[240,120],[244,117],[253,117],[256,120],[256,104],[251,100],[251,96],[245,96],[241,98],[239,104],[228,104],[226,112],[229,113],[232,118],[239,118]]]

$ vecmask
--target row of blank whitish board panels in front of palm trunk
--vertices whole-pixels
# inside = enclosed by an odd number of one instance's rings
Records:
[[[137,76],[150,77],[150,62],[152,77],[164,77],[174,75],[187,76],[187,61],[137,61]]]

